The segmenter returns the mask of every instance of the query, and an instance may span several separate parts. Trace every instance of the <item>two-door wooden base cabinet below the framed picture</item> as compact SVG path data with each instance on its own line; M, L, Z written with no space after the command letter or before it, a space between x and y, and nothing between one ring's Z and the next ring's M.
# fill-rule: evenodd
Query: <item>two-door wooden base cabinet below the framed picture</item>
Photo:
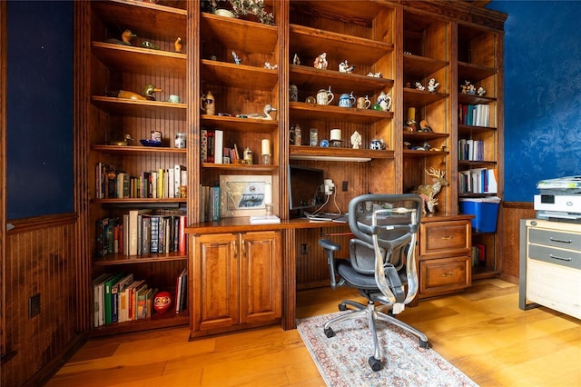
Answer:
M192 338L280 323L280 232L191 238Z

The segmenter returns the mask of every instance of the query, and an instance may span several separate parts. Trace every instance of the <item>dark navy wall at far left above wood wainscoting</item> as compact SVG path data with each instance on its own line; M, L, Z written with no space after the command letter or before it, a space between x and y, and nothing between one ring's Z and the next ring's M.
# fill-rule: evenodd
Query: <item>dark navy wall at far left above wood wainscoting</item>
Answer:
M7 4L7 219L74 211L73 2Z

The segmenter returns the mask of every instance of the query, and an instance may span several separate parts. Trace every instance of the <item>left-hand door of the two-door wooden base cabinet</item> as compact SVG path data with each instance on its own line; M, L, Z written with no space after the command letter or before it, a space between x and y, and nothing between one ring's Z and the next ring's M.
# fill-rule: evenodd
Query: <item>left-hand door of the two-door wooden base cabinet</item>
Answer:
M239 323L239 235L193 237L193 330Z

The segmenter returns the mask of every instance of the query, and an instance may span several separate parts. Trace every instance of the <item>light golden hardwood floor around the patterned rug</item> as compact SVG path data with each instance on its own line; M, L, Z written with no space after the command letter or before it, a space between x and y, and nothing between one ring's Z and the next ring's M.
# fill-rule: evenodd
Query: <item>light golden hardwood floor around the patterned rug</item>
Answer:
M297 316L337 311L349 289L302 291ZM518 287L491 279L421 301L399 318L481 386L580 386L581 321L518 309ZM296 330L268 327L188 342L188 329L94 339L48 386L323 386Z

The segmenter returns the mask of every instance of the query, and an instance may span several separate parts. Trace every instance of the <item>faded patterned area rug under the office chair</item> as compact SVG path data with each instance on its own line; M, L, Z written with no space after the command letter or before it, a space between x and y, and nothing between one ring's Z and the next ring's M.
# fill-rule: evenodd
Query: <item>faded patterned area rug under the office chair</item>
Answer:
M368 359L373 354L373 339L365 319L338 323L331 338L323 332L324 323L340 313L297 320L300 337L327 385L477 386L438 353L419 348L416 336L386 323L378 323L384 366L379 372L371 371Z

